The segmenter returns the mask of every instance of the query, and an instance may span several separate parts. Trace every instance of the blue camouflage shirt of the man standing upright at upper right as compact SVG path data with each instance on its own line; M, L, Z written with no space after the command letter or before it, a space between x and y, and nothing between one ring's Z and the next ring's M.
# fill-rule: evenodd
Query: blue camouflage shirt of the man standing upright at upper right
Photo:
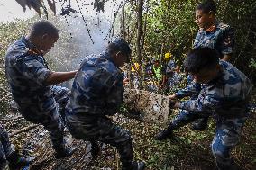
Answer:
M233 53L233 28L229 25L215 22L210 30L200 29L193 48L210 47L217 50L222 56Z

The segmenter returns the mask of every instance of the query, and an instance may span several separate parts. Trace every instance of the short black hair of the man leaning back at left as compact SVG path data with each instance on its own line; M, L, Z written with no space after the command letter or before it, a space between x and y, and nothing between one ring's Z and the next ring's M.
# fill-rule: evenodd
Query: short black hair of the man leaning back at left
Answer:
M50 22L40 21L40 22L35 22L32 25L31 34L32 36L41 36L44 34L58 36L59 30Z

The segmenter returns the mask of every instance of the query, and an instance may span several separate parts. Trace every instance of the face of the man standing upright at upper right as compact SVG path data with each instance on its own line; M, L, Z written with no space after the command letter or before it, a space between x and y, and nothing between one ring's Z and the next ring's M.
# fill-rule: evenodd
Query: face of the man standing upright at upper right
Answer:
M212 14L211 13L204 13L202 10L196 11L196 20L199 28L207 28L209 25L209 22L212 20Z

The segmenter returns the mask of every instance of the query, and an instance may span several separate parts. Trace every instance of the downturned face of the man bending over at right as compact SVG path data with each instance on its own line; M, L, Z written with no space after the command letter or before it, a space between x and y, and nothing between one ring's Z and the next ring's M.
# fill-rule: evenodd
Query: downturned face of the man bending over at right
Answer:
M203 68L196 74L194 73L189 73L189 74L193 76L195 82L199 84L206 84L211 80L215 79L215 77L218 76L219 71L220 71L220 66L217 65L212 69Z

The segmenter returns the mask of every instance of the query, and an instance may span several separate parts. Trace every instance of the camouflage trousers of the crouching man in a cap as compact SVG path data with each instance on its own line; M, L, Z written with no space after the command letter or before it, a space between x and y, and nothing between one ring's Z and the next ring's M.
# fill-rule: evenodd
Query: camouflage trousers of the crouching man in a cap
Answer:
M125 165L130 165L133 160L132 138L127 130L115 125L106 117L83 117L67 115L67 125L73 137L84 139L92 143L94 148L97 141L110 144L117 148L120 160Z

